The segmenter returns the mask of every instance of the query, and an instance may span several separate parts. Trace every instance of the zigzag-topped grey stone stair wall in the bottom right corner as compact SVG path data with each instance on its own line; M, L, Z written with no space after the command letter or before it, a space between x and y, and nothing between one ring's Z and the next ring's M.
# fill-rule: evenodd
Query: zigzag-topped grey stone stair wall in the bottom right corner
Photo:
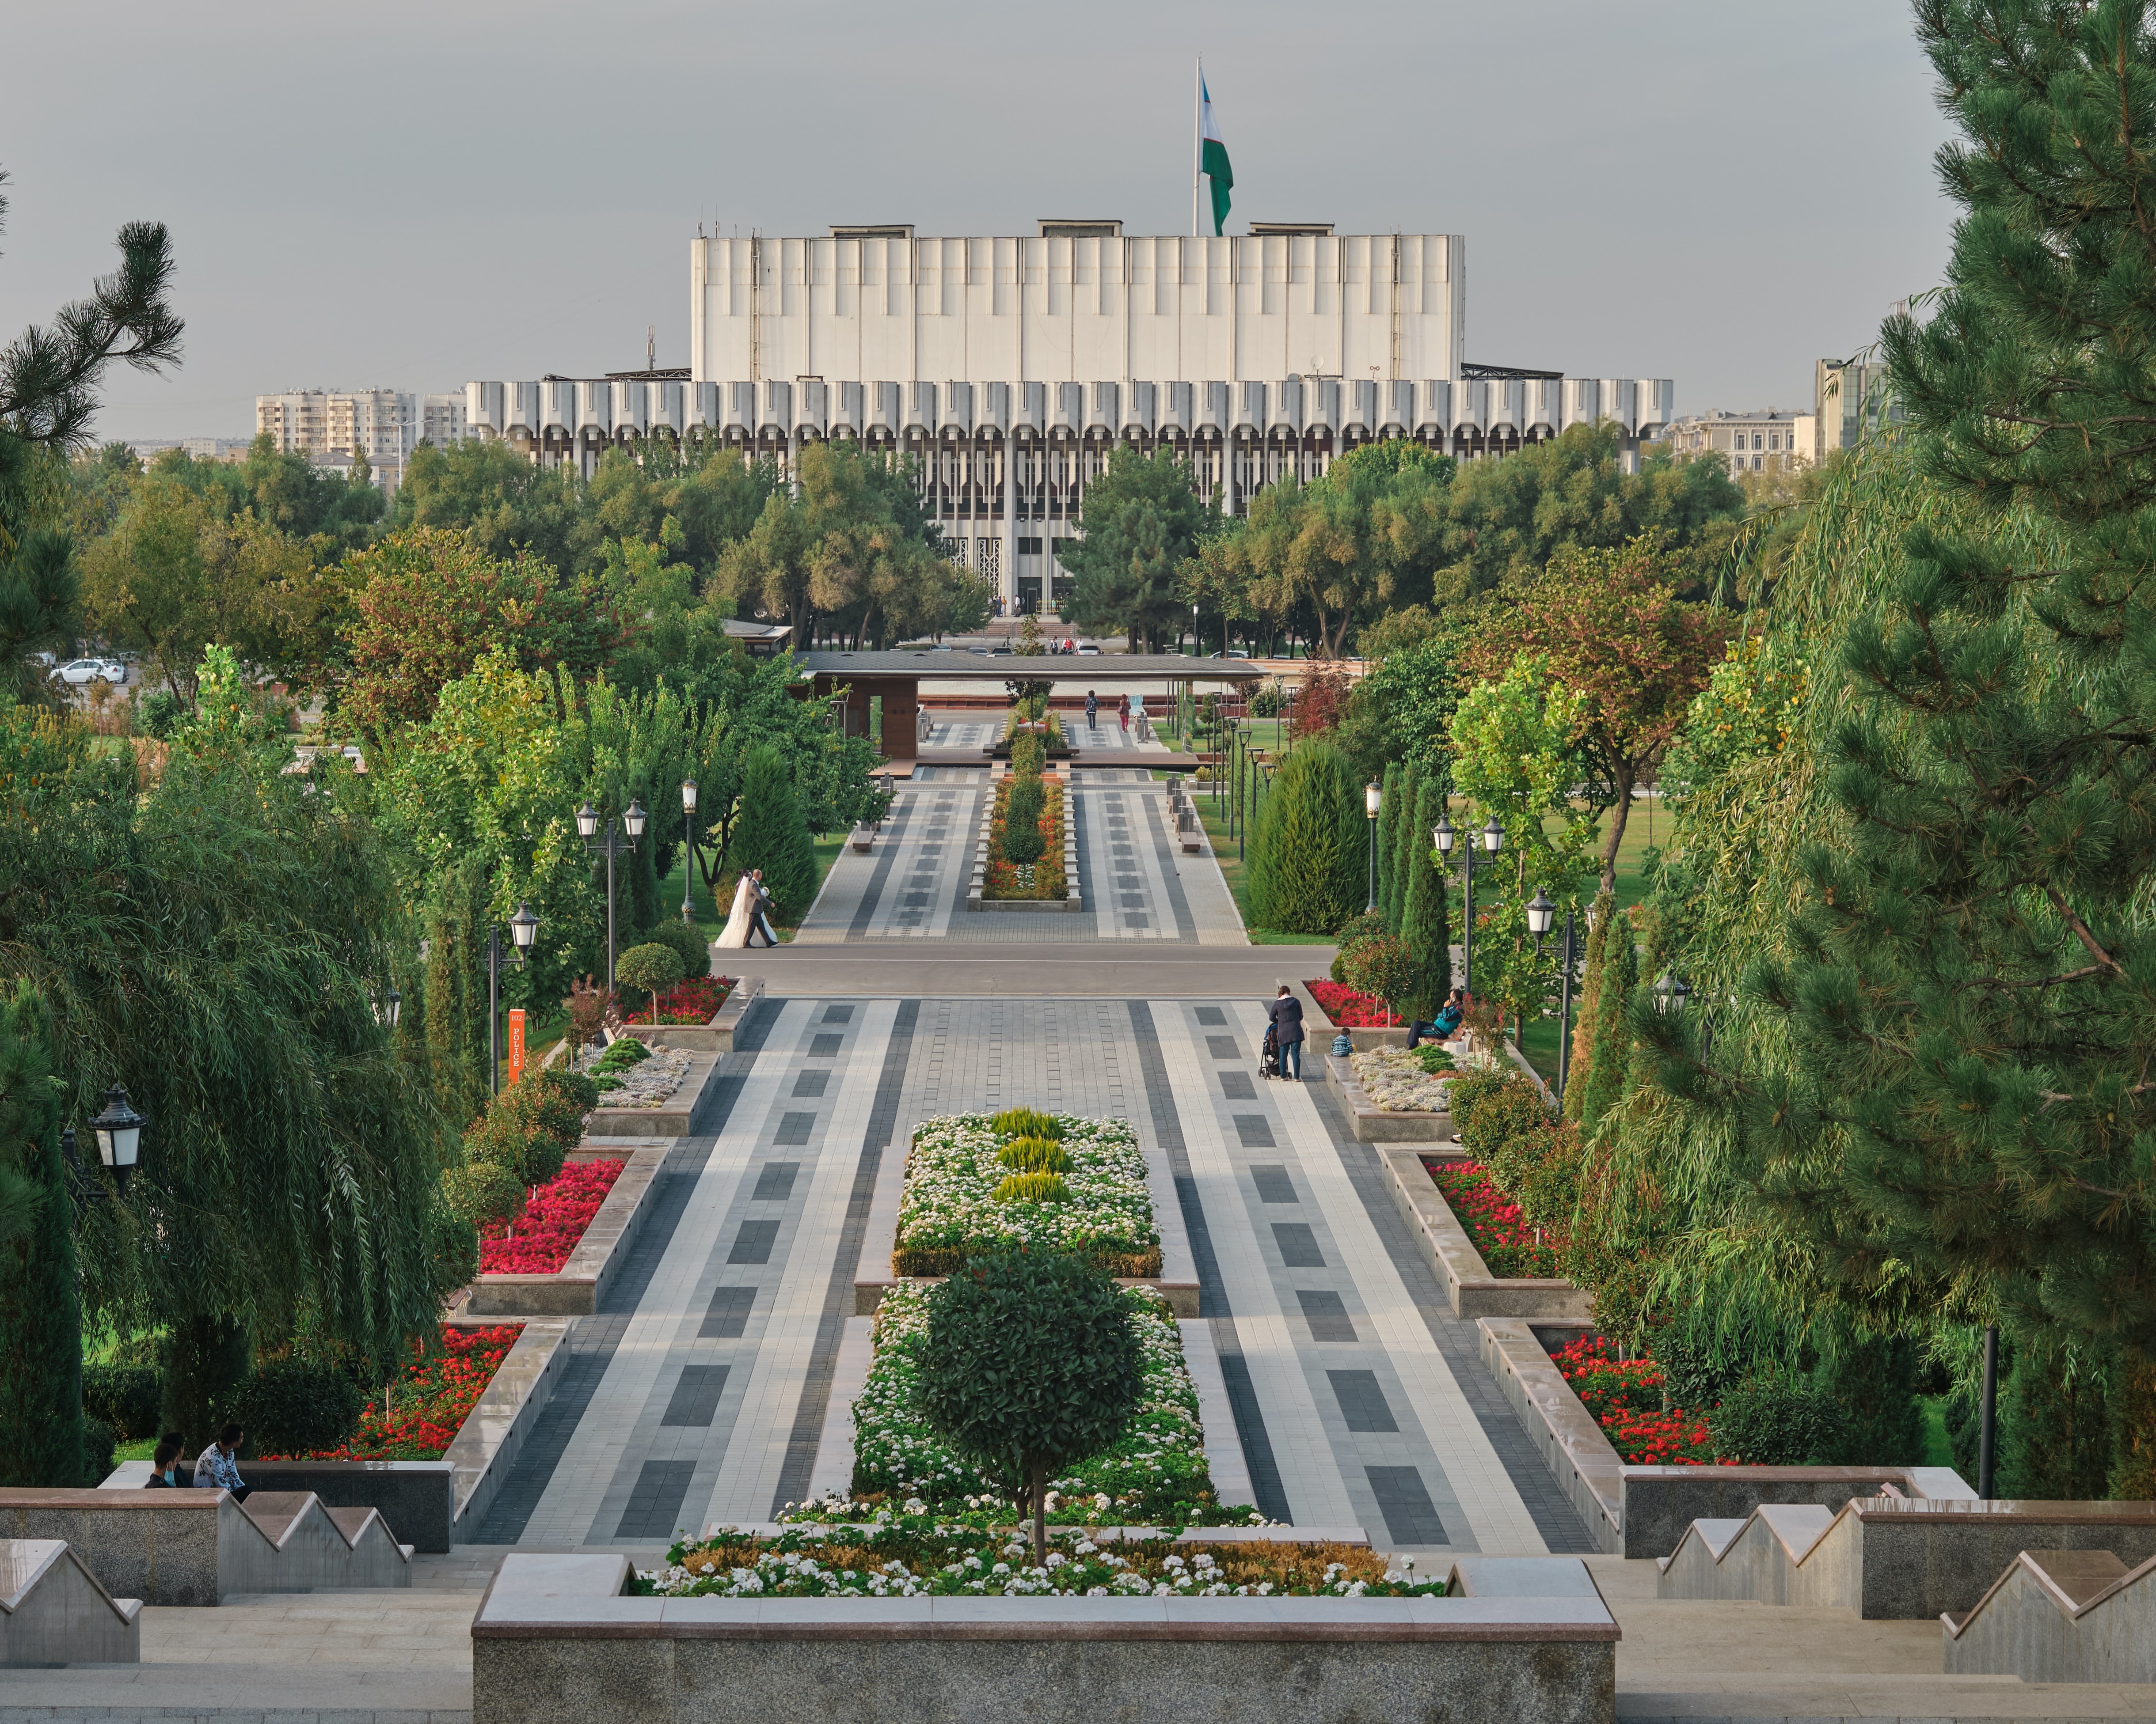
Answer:
M2156 1683L2156 1558L2024 1549L1947 1629L1949 1677L2024 1683Z

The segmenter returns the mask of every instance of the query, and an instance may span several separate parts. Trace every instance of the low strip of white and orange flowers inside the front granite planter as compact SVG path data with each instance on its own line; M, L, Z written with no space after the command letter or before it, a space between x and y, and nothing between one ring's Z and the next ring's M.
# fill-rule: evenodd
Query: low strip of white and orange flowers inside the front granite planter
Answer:
M938 1524L927 1515L776 1539L724 1530L666 1552L630 1590L673 1599L914 1599L914 1597L1153 1597L1153 1599L1440 1599L1445 1577L1421 1577L1367 1545L1179 1545L1171 1539L1061 1534L1039 1567L1024 1541Z

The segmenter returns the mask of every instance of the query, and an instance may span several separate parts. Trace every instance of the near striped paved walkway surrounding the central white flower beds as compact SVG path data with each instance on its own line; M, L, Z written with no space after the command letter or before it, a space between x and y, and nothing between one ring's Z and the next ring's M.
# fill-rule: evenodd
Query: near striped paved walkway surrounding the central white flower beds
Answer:
M1166 1151L1257 1506L1397 1549L1585 1549L1376 1157L1322 1090L1257 1075L1259 1032L1253 998L759 1004L483 1539L664 1543L806 1496L882 1157L1033 1103Z

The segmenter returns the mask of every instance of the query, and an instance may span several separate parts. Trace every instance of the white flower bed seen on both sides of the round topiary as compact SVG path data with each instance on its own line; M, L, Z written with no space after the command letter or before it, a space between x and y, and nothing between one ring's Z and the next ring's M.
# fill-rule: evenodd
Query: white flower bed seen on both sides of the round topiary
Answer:
M1011 1502L959 1459L921 1416L921 1345L927 1287L895 1287L875 1312L875 1358L854 1401L854 1498L804 1502L798 1519L867 1519L918 1502L977 1524L1009 1524ZM1123 1289L1143 1355L1145 1388L1123 1435L1054 1478L1048 1513L1080 1526L1227 1526L1263 1517L1248 1504L1222 1506L1205 1468L1199 1392L1184 1364L1181 1332L1149 1287Z

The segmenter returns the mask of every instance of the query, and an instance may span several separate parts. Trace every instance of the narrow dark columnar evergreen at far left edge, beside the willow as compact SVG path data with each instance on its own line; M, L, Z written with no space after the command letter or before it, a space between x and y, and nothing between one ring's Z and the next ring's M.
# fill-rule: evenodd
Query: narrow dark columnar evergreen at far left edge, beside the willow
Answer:
M82 1474L75 1207L60 1162L52 1024L28 981L0 1011L0 1485Z

